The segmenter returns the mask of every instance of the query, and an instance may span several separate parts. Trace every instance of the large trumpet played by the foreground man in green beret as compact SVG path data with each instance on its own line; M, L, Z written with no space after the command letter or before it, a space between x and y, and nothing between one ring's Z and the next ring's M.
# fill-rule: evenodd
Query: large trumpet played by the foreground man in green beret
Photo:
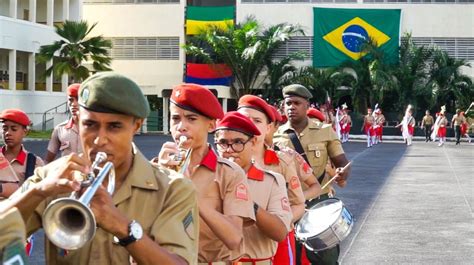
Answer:
M106 162L103 167L99 167L106 160L107 154L97 153L91 173L81 182L81 186L86 190L80 198L73 192L69 197L56 199L46 207L43 213L43 228L48 239L56 246L67 250L78 249L94 237L97 224L89 207L90 201L106 176L109 177L107 191L110 195L115 189L115 170L112 162ZM97 175L95 171L98 171Z

